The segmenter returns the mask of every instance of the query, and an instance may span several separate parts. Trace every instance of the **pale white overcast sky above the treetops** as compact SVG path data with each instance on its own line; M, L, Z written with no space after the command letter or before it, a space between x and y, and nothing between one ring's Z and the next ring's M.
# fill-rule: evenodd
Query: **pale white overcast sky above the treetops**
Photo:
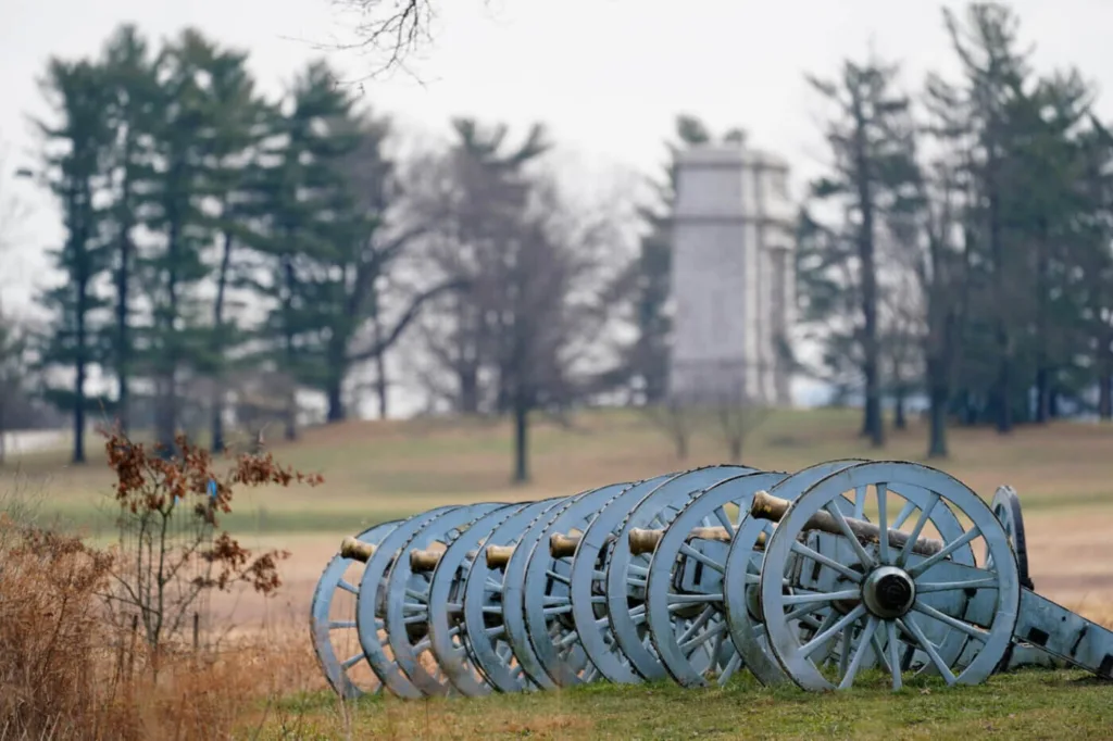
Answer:
M393 2L393 0L384 0ZM545 121L567 152L603 172L654 172L678 112L794 165L794 192L823 157L818 107L805 72L826 75L870 45L903 60L905 82L954 69L940 7L927 0L432 0L435 36L413 75L366 81L363 95L412 131L444 135L450 117L473 115L523 131ZM1075 65L1113 89L1113 0L1016 0L1040 68ZM0 0L0 140L8 144L0 191L32 209L19 259L0 264L4 300L26 300L45 275L41 249L61 230L49 199L10 178L30 162L28 113L43 108L36 78L51 56L96 53L112 29L135 22L149 37L195 26L250 51L260 85L275 93L316 45L346 40L332 0ZM375 59L331 53L352 79ZM1100 102L1113 118L1113 92Z

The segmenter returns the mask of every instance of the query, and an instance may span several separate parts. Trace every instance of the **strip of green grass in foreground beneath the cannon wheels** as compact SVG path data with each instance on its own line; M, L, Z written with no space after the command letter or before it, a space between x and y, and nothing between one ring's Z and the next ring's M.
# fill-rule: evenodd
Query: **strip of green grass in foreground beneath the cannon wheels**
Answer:
M864 678L869 679L869 678ZM976 686L915 681L898 693L814 694L740 678L725 689L592 684L559 692L404 702L364 698L348 711L365 739L1109 739L1113 683L1072 671L1018 671ZM327 693L268 709L260 739L343 738Z

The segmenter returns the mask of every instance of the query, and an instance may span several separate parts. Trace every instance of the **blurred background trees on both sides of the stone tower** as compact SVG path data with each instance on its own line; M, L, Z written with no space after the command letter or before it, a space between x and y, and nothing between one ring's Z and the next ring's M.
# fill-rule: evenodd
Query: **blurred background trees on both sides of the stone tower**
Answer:
M955 79L908 92L876 57L808 78L830 158L797 249L823 348L798 366L860 393L875 446L886 405L902 427L926 397L935 456L955 421L1007 433L1113 414L1113 138L1096 93L1076 70L1034 70L1002 6L944 21ZM446 146L402 157L391 117L326 63L268 99L246 61L194 30L156 46L124 26L95 58L47 67L31 176L62 215L61 278L38 297L49 322L9 330L19 353L0 366L9 387L30 377L13 355L43 372L33 391L72 416L75 461L91 414L167 444L204 429L214 449L229 411L296 437L302 391L326 422L365 394L386 416L403 345L431 406L514 419L519 481L531 415L615 393L669 405L672 161L738 131L677 119L627 255L630 219L569 197L543 125L455 119ZM93 378L112 388L90 393Z

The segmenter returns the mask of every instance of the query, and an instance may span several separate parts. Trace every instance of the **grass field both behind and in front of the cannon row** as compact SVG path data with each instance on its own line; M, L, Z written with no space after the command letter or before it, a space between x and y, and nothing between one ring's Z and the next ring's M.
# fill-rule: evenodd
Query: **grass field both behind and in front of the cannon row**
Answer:
M840 457L920 460L925 429L914 423L874 452L856 435L857 414L825 409L776 414L746 443L748 465L794 471ZM523 501L573 494L725 460L709 427L678 461L667 435L637 412L583 413L571 426L532 429L533 481L509 483L509 427L483 421L346 423L306 431L276 457L326 483L316 490L254 492L227 521L248 546L293 552L285 585L264 603L239 595L223 609L240 626L264 621L304 625L317 575L339 539L375 522L455 502ZM106 492L110 474L99 441L90 460L70 467L60 453L28 455L0 470L0 492L20 488L42 508L93 540L111 536ZM1113 426L1057 423L1018 429L955 429L952 456L933 463L985 497L1001 484L1017 488L1028 530L1037 591L1113 624ZM301 630L301 629L299 629ZM304 632L301 634L304 635ZM307 651L306 638L294 649ZM589 688L479 701L402 703L367 700L342 713L332 695L296 683L296 694L260 704L244 719L259 738L955 738L977 734L1113 738L1113 686L1071 672L1026 672L985 686L855 690L850 696L769 691L740 681L721 691L672 686ZM345 720L345 718L347 720ZM262 725L259 725L262 723Z

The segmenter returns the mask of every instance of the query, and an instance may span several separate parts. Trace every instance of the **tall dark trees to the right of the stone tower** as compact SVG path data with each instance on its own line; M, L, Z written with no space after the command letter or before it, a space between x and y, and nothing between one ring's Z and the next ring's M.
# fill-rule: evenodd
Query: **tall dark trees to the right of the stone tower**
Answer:
M961 75L916 93L876 57L809 77L829 107L829 170L810 185L798 276L817 373L861 389L885 442L927 397L928 455L948 421L1113 415L1113 138L1075 69L1038 72L1016 14L943 11Z

